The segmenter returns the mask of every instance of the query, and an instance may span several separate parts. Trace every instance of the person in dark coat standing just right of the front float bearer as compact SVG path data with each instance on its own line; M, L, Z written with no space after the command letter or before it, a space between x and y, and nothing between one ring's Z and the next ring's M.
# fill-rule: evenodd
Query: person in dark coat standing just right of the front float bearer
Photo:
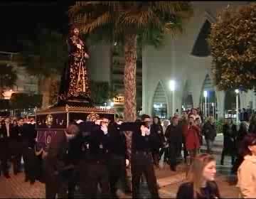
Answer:
M154 165L159 168L159 157L160 157L160 148L163 146L164 143L164 133L163 127L161 126L160 118L154 117L153 124L150 127L151 136L152 136L152 156Z

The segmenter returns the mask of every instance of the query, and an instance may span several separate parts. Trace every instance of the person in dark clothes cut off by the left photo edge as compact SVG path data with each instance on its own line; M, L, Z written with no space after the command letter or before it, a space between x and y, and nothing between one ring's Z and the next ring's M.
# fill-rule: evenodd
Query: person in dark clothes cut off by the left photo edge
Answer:
M1 161L1 173L4 174L6 178L10 178L9 170L7 166L8 161L8 137L6 132L4 120L1 121L1 129L0 129L0 161ZM1 174L0 173L0 174Z

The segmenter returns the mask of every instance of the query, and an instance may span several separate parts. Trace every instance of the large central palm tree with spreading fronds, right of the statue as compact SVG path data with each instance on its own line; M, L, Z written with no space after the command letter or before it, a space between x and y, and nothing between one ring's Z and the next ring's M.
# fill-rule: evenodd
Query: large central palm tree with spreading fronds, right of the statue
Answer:
M90 37L124 45L124 119L136 119L137 42L159 46L166 33L181 33L191 16L186 1L77 1L70 22Z

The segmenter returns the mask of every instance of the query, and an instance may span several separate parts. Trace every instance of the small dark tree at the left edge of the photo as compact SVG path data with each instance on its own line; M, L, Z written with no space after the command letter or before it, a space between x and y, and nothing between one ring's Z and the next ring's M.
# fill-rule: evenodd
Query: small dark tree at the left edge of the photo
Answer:
M0 99L4 99L4 90L13 87L18 76L12 65L1 64L0 71Z

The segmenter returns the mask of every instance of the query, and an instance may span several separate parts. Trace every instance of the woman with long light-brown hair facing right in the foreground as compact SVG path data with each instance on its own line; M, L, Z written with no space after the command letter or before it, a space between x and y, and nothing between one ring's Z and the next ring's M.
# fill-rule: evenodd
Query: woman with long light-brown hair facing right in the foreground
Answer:
M220 198L218 185L214 181L215 173L215 158L210 154L198 154L188 171L188 182L180 185L176 198Z

